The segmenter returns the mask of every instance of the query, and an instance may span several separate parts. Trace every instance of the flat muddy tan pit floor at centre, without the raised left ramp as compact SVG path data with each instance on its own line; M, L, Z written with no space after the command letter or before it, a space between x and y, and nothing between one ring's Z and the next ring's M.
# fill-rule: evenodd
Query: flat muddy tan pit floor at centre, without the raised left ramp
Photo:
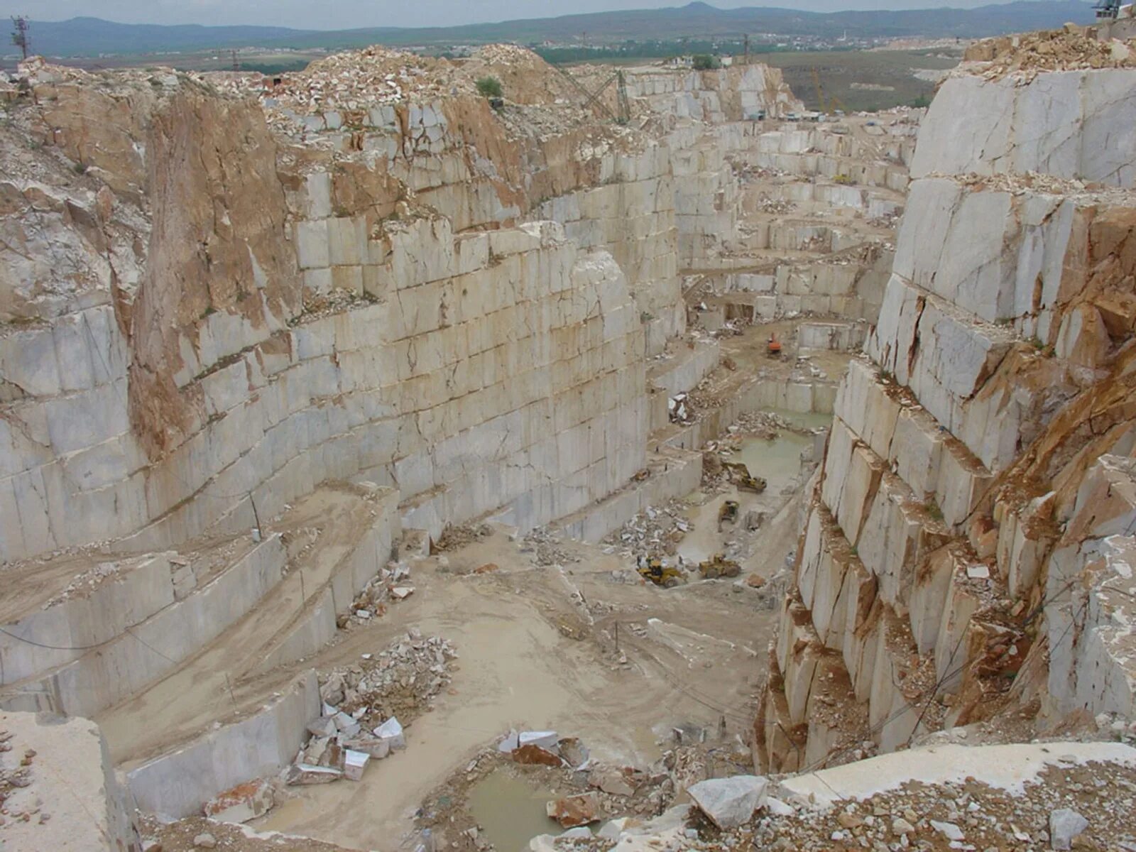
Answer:
M745 566L766 577L796 546L796 499L775 491L746 495L780 506L754 534L760 558ZM616 582L612 571L626 577L633 566L602 546L560 542L579 561L559 568L535 566L524 546L496 532L446 553L446 569L436 558L414 560L410 599L304 663L351 662L411 626L459 653L450 690L408 727L406 751L359 784L300 788L256 828L396 849L421 800L510 727L579 736L593 757L637 765L657 759L682 724L717 727L725 718L730 733L744 733L772 630L770 594L734 579L667 590ZM496 570L471 573L491 562Z

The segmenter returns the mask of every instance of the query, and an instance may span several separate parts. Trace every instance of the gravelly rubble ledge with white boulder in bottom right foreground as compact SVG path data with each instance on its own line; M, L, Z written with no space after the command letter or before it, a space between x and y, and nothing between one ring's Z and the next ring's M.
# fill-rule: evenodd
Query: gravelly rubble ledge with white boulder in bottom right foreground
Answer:
M1054 749L1060 743L1052 744ZM685 788L692 804L654 819L612 819L594 836L542 835L531 852L554 852L571 841L576 852L612 849L726 852L827 852L908 849L1036 852L1037 850L1136 850L1136 779L1131 762L1061 758L1035 777L1006 786L977 780L909 780L868 795L822 786L805 794L797 779L754 775L708 778ZM887 785L886 778L878 784ZM867 780L860 786L871 787Z

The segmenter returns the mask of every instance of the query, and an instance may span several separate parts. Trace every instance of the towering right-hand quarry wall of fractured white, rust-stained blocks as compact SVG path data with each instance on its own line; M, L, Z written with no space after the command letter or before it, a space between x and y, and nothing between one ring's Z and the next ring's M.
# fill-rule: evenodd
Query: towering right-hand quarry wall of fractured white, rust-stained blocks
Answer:
M1133 72L961 75L936 97L807 510L762 766L891 751L1011 701L1136 711L1130 465L1092 467L1133 446ZM1074 419L1089 410L1100 427Z

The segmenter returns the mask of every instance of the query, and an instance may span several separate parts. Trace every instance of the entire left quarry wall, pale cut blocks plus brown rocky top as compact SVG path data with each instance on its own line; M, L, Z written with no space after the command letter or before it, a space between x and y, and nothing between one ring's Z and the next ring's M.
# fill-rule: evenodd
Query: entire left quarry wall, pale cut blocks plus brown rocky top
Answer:
M702 194L671 140L537 133L425 84L257 106L26 72L37 153L82 170L5 182L0 559L161 550L328 479L396 488L434 533L506 507L527 528L643 467L644 357L685 327L677 210ZM784 100L760 76L746 98Z

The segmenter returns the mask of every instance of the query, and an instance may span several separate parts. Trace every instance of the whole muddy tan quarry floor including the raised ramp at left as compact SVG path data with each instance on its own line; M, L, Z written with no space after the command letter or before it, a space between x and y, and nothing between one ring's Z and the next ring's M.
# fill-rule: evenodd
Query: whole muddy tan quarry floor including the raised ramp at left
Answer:
M722 353L736 366L715 371L705 385L709 398L728 398L740 381L755 374L793 371L794 351L770 361L763 345L770 332L792 340L793 325L752 326L724 337ZM836 378L847 356L820 352L810 361ZM817 426L826 418L801 419ZM690 583L674 588L645 583L633 556L644 551L619 543L619 531L604 544L585 544L553 531L525 538L493 527L487 537L434 556L420 556L418 543L408 538L400 558L410 567L412 595L392 602L382 617L352 618L317 654L261 674L258 650L306 602L310 605L312 587L367 523L350 493L319 490L269 528L315 535L323 544L306 550L296 562L302 570L291 571L250 617L169 676L100 715L111 755L119 769L128 769L210 725L254 712L304 670L352 665L410 628L448 640L458 659L433 709L407 724L406 751L373 762L360 783L289 787L286 797L250 827L304 838L298 850L320 843L401 849L417 836L415 816L424 801L510 728L577 736L593 758L638 767L662 754L677 727L724 733L745 751L786 565L797 546L803 483L812 469L780 458L799 451L792 440L750 442L741 458L768 479L762 494L710 481L679 501L691 528L677 552L698 561L732 550L741 577L701 580L694 571ZM740 519L757 510L767 520L754 532L744 523L719 529L718 509L727 499L738 501ZM667 561L674 563L674 557ZM170 841L164 837L164 847ZM242 838L237 846L248 842Z

